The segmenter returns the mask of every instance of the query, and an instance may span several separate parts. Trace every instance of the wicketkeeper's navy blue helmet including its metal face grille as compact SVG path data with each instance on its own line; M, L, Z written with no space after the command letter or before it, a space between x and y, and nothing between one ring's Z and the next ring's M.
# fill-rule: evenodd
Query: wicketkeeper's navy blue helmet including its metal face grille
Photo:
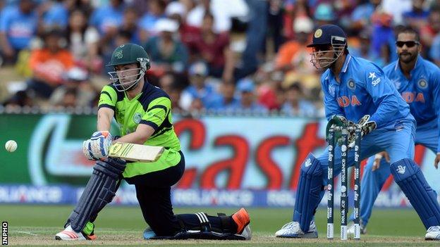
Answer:
M316 68L329 68L339 56L341 56L347 46L346 33L337 25L322 25L314 31L312 44L312 58L310 60ZM326 48L326 49L323 49ZM322 57L324 53L334 52L333 58Z

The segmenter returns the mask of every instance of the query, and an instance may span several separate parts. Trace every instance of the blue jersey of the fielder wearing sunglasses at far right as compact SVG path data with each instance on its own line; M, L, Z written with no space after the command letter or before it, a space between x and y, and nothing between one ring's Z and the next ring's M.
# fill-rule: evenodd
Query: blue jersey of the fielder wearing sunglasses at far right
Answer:
M403 75L398 61L384 68L402 98L409 104L418 128L435 129L440 126L440 69L434 63L417 57L410 79ZM437 152L440 151L440 140Z

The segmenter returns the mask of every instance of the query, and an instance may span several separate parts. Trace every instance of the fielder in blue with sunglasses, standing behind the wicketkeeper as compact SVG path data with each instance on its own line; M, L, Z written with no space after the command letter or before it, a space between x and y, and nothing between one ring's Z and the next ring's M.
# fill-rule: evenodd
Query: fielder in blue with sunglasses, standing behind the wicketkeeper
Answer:
M410 27L398 31L396 49L399 59L384 68L385 75L409 104L410 112L417 121L415 144L421 144L436 153L434 166L437 167L440 160L440 69L419 55L422 49L420 37L417 31ZM387 160L388 153L379 153L376 160L370 157L365 166L360 200L362 234L366 233L365 227L371 216L374 201L390 175ZM348 229L349 234L353 231L353 227Z

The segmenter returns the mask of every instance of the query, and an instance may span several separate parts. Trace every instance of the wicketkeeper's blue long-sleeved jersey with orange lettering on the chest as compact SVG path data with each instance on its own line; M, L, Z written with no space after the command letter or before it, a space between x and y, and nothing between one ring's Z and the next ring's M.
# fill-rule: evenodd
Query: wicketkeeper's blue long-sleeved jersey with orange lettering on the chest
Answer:
M370 115L378 129L393 128L403 120L414 121L408 104L374 63L347 54L339 79L337 82L330 69L321 77L327 120L343 115L358 122Z

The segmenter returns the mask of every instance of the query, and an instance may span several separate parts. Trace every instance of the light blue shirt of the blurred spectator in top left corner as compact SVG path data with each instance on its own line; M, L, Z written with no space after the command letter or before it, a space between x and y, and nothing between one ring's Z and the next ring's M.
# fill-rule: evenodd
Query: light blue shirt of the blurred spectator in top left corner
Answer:
M0 32L4 32L13 49L28 48L37 32L37 13L24 14L17 5L6 6L0 13Z

